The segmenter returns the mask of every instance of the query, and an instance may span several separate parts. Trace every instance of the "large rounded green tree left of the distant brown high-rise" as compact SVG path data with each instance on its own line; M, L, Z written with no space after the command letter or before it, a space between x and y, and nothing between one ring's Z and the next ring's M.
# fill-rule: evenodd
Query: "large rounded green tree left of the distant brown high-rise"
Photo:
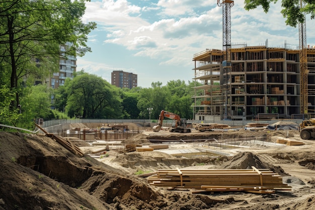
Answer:
M119 89L96 75L80 72L64 84L68 116L83 118L121 118Z

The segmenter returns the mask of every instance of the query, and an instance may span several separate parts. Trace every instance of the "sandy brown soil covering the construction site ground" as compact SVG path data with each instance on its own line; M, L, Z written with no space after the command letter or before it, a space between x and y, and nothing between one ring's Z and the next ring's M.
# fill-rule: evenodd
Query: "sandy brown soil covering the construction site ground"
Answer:
M134 125L136 126L136 125ZM0 132L0 210L3 209L315 209L315 141L303 141L298 131L212 131L159 133L140 129L130 141L151 144L148 139L180 140L171 149L205 147L202 141L188 139L251 139L267 142L291 139L301 146L276 146L244 141L230 149L217 149L231 156L178 158L162 153L111 150L91 157L102 146L73 141L85 153L77 157L44 135ZM185 140L187 140L185 142ZM184 141L184 142L183 142ZM269 168L292 186L291 191L274 194L218 192L192 194L191 190L173 190L149 185L138 172L158 169L246 169Z

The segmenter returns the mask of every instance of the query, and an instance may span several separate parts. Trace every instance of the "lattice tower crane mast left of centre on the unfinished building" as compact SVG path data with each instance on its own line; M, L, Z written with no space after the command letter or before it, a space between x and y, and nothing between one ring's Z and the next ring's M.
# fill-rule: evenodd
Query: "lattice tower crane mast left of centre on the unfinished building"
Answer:
M222 6L223 14L223 84L225 84L225 108L224 108L224 119L227 119L227 105L228 105L228 92L229 92L229 82L231 72L231 58L230 58L230 49L231 49L231 7L234 5L234 1L230 0L217 0L217 5Z

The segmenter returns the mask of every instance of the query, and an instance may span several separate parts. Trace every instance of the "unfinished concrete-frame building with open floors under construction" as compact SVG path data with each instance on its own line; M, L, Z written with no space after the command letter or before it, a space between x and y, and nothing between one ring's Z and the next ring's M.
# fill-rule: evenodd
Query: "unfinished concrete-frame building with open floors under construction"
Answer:
M294 118L300 111L299 50L243 46L194 54L196 120ZM308 112L315 110L315 48L307 48Z

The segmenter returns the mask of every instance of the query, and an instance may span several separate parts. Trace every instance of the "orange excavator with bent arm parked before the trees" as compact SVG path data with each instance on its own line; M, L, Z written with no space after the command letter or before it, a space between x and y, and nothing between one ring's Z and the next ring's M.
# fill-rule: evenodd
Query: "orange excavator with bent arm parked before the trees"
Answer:
M162 128L162 123L164 118L170 118L175 120L175 128L171 128L170 132L181 132L181 133L190 133L191 129L187 128L187 120L181 119L178 114L174 114L172 112L167 112L162 110L159 117L159 122L152 129L154 132L159 132Z

